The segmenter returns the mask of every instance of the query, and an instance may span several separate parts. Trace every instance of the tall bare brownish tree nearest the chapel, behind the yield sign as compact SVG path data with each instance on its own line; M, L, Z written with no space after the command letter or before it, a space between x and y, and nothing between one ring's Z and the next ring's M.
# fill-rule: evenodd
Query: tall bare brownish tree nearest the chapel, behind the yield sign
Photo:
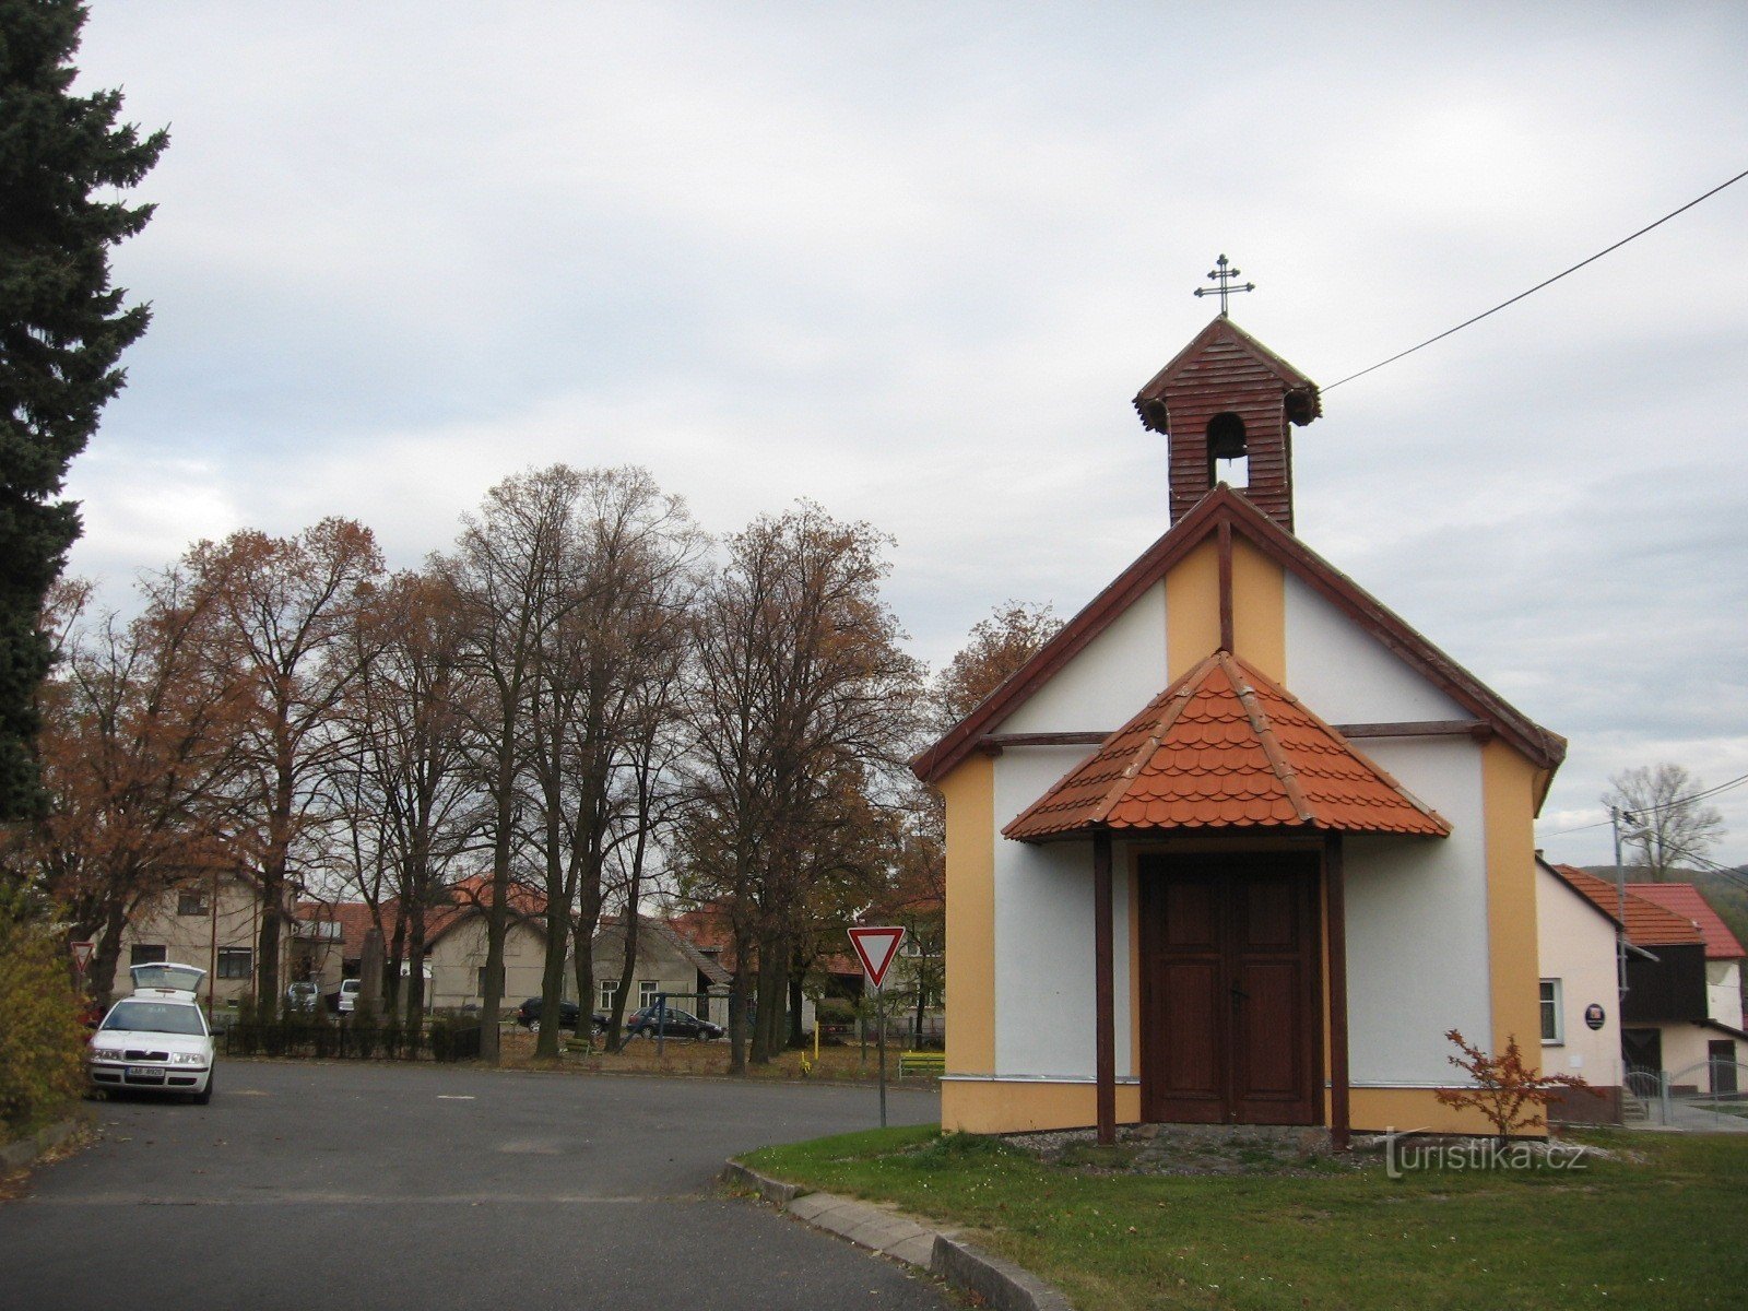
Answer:
M753 1061L781 1035L797 919L832 864L851 799L846 776L895 769L919 671L879 596L890 542L818 505L755 519L701 614L694 703L701 806L680 855L694 898L734 940L731 1068L746 1070L745 1002L759 958Z

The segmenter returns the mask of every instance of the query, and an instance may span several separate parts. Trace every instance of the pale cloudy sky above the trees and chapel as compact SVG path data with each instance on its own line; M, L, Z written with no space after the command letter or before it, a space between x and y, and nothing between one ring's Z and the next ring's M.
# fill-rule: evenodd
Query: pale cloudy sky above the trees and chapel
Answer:
M91 9L84 86L173 133L70 482L117 601L325 514L416 565L505 474L631 461L711 531L890 531L940 662L1164 530L1129 397L1217 253L1328 386L1748 168L1741 3ZM1745 255L1748 180L1295 442L1301 537L1571 739L1556 858L1608 858L1563 830L1610 773L1748 774Z

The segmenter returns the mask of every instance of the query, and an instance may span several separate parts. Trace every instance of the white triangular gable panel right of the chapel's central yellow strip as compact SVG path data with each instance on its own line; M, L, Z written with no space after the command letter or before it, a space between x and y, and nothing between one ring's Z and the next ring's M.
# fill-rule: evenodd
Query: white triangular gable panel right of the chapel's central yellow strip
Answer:
M1456 701L1290 572L1287 687L1328 724L1468 717Z

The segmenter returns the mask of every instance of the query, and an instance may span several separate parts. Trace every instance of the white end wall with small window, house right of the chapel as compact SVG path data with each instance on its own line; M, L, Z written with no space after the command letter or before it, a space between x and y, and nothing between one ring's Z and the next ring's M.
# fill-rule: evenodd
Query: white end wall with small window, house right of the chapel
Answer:
M1598 1087L1620 1084L1620 989L1615 965L1615 926L1594 904L1556 874L1536 867L1535 926L1543 979L1559 979L1561 1042L1543 1044L1542 1068L1552 1075L1578 1075ZM1603 1026L1584 1023L1584 1010L1603 1009ZM1530 1040L1519 1037L1523 1047Z

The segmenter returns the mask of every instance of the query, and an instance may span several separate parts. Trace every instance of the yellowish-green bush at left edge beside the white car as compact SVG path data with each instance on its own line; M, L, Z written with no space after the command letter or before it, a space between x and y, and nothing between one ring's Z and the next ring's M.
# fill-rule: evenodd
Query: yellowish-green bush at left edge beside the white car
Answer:
M0 905L0 1140L45 1124L84 1091L79 1007L56 935Z

